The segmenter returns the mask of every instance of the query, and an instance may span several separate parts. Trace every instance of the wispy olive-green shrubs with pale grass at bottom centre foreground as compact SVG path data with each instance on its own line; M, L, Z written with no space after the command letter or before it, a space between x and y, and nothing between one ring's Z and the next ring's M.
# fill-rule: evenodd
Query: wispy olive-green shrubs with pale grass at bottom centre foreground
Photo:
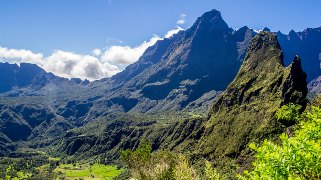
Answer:
M120 150L120 159L128 165L131 175L139 180L194 180L196 171L182 154L174 155L164 150L158 156L152 147L142 142L142 147L132 152Z

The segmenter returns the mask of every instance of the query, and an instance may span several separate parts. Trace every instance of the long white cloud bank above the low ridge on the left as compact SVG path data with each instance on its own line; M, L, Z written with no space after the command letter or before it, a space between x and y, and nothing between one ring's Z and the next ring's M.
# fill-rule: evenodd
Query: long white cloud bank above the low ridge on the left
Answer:
M95 51L95 50L94 50ZM100 52L96 50L96 53ZM101 63L96 57L55 50L51 56L43 58L42 53L32 53L24 49L8 49L0 46L0 58L13 59L13 63L29 62L37 64L47 72L64 78L81 78L90 81L111 77L120 72L115 65Z

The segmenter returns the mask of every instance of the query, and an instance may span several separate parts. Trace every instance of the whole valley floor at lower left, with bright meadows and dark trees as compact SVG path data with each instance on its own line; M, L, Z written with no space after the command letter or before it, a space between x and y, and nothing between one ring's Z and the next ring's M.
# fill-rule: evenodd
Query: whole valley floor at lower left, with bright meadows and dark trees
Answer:
M66 164L62 163L65 162ZM116 165L90 163L73 166L72 160L54 160L47 156L24 158L1 158L0 179L3 180L54 180L54 179L93 179L111 180L124 169Z

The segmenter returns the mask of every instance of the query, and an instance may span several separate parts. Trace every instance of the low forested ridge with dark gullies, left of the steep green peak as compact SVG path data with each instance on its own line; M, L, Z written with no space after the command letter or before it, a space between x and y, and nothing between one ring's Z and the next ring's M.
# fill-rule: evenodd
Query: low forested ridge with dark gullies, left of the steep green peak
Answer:
M143 137L151 142L153 150L159 149L160 145L172 150L204 121L204 118L188 117L188 113L180 111L155 115L111 113L83 127L68 130L56 142L51 156L93 160L101 155L108 158L106 164L112 164L112 161L119 158L121 148L134 150Z

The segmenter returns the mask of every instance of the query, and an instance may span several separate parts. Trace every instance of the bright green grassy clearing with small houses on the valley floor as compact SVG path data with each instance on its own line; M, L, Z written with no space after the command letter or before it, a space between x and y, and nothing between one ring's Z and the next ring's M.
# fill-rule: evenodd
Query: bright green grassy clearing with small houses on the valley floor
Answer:
M82 169L74 169L76 167ZM65 174L65 179L100 179L100 180L111 180L112 178L118 176L123 169L117 170L117 166L105 166L99 165L97 163L93 164L92 166L87 164L76 164L74 167L72 164L61 164L59 167L56 168L56 172L61 172Z

